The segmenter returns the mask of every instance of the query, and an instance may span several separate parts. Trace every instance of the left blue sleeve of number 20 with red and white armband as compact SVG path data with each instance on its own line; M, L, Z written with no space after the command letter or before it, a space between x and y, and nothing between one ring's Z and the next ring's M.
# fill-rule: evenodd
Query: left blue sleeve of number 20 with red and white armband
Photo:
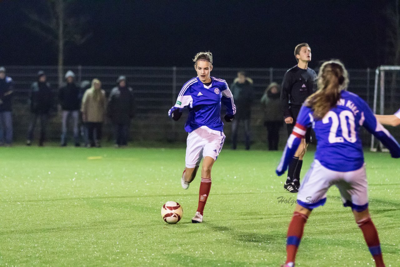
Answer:
M311 120L309 114L311 113L311 108L307 106L302 106L298 114L296 125L293 128L292 134L289 136L286 142L285 149L283 151L280 163L276 168L276 174L278 176L283 175L288 169L290 161L292 161L294 153L301 143L301 139L306 135L307 128L311 126Z

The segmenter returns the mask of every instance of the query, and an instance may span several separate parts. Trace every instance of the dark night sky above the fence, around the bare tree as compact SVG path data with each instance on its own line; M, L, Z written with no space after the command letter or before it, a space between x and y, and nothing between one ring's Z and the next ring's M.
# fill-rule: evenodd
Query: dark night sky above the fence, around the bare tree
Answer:
M389 1L387 1L389 2ZM42 3L42 4L41 4ZM0 1L0 65L56 65L54 44L26 28L22 11L43 2ZM92 37L66 48L65 65L192 66L210 50L214 67L293 66L296 44L312 48L311 67L341 59L348 68L387 61L385 1L72 1Z

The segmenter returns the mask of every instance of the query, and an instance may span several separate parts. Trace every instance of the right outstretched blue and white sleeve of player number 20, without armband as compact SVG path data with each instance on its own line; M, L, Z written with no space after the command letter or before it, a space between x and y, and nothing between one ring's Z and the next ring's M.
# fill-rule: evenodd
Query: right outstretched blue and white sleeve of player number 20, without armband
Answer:
M372 135L374 135L387 149L389 149L392 158L400 158L400 146L397 141L392 137L390 132L376 120L374 113L366 102L364 102L364 100L361 100L360 102L363 110L362 116L364 116L362 126L364 126L368 132L372 133Z

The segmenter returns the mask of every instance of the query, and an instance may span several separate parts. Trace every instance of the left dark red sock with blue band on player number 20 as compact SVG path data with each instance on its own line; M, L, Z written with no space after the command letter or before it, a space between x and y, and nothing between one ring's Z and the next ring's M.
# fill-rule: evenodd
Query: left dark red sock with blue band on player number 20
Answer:
M308 219L307 215L295 211L290 221L286 239L286 263L294 262L298 246L303 236L304 225Z

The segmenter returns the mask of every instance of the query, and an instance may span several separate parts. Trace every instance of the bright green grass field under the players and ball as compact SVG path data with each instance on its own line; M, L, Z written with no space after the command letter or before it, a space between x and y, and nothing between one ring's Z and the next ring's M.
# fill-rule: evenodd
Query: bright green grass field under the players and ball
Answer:
M204 223L192 224L200 176L184 191L184 149L0 148L1 266L278 266L295 199L281 152L222 150ZM304 159L302 175L313 152ZM400 161L366 152L370 211L386 266L400 266ZM182 220L160 209L179 202ZM313 211L296 266L374 266L336 188Z

